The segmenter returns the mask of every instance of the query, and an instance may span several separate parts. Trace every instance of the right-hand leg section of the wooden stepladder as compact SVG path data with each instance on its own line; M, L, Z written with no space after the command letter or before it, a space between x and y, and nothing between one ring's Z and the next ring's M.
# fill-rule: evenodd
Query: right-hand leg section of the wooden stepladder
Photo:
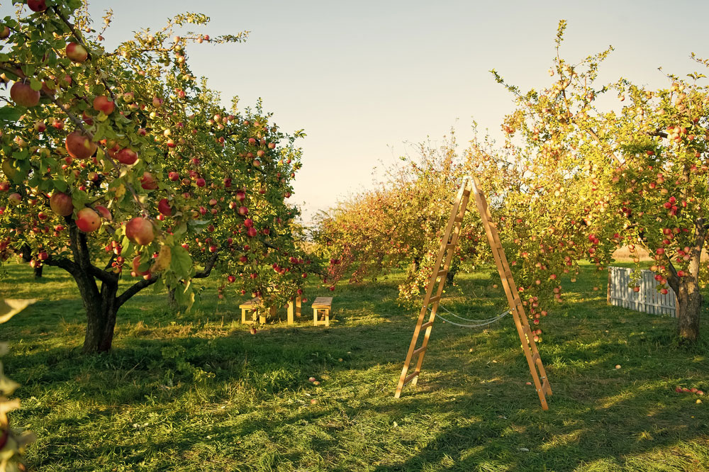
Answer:
M475 203L478 207L478 211L480 212L480 218L485 228L488 241L490 246L493 248L493 258L495 259L497 271L502 279L502 284L505 289L508 303L510 308L513 308L511 313L513 315L513 319L515 320L515 327L517 327L520 341L522 342L522 350L525 354L525 358L527 359L527 365L529 366L530 373L532 374L532 380L534 381L535 388L537 389L537 395L539 396L540 403L542 404L542 409L548 410L549 407L547 405L546 394L548 393L551 395L551 387L549 386L547 373L544 369L544 364L542 364L539 351L537 350L537 344L531 334L532 330L529 326L529 322L527 322L527 314L525 313L522 300L519 298L517 285L513 279L512 271L510 271L507 256L502 248L502 243L500 242L497 228L491 221L492 216L484 193L480 189L480 182L478 179L474 178L473 184ZM539 373L537 373L537 369L539 369ZM542 381L545 383L540 381L540 376L542 377Z

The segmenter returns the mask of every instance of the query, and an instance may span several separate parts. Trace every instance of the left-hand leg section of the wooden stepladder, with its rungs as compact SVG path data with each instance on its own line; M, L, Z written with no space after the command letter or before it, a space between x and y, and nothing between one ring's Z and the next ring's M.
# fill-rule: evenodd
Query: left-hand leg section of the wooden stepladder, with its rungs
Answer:
M455 201L453 203L453 208L450 214L450 218L448 219L448 224L445 227L445 231L443 232L443 237L441 238L441 244L440 244L440 249L438 251L438 257L436 258L435 265L433 267L433 271L431 274L431 278L428 281L428 287L426 288L426 295L423 298L423 307L421 308L421 312L418 315L418 320L416 322L416 327L413 330L413 336L411 337L411 343L409 344L408 347L408 352L406 354L406 360L404 360L403 363L403 369L401 369L401 376L399 377L398 385L396 386L396 393L394 393L394 398L399 398L401 396L401 389L403 388L406 383L409 383L410 381L414 381L413 384L415 385L415 379L418 379L418 374L420 373L421 369L421 364L423 363L423 357L425 354L425 347L428 346L428 339L430 337L430 333L432 331L432 325L433 321L435 320L435 315L436 315L436 310L438 308L438 305L436 304L437 301L440 300L441 293L443 291L443 286L445 284L445 278L441 279L441 281L438 283L437 290L436 290L436 295L433 296L433 289L436 286L436 281L439 279L443 274L447 274L448 269L450 268L450 261L453 256L453 251L447 251L446 247L449 244L455 244L457 243L457 238L460 232L460 221L457 221L457 215L464 215L465 210L467 208L467 204L469 201L469 195L471 193L471 180L469 177L465 177L462 181L462 184L460 186L460 189L457 193L457 196L455 198ZM450 243L449 243L450 241ZM448 252L448 254L446 254ZM445 262L444 262L445 260ZM441 267L441 264L443 263L443 267ZM428 313L428 305L432 303L433 300L433 308L431 310L431 314L429 317L428 322L423 323L423 318L425 317L425 314ZM416 344L418 344L418 337L420 335L420 331L422 327L425 327L425 335L423 338L423 344L422 348L423 351L420 351L418 355L418 361L416 363L416 369L411 375L407 376L409 366L411 364L411 360L413 359L414 352L417 350L416 349ZM419 348L421 349L421 348Z

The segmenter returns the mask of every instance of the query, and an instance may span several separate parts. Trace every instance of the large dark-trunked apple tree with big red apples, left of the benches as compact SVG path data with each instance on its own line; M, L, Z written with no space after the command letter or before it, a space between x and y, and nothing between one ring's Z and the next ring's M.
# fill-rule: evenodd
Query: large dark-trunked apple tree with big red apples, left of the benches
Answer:
M26 9L0 23L0 259L72 275L84 352L111 348L119 308L148 286L187 306L192 281L213 273L220 295L283 305L302 293L311 262L288 203L301 133L260 103L225 109L189 68L188 47L246 33L184 32L208 23L188 13L106 50L110 13L96 27L81 0Z

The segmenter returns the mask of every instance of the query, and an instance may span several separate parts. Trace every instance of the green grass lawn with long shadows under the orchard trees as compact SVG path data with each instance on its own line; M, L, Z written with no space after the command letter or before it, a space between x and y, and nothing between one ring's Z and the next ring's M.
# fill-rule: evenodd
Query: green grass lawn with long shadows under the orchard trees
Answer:
M22 384L11 420L38 434L38 471L709 470L709 395L674 391L709 390L709 313L701 342L680 347L674 319L608 307L588 266L542 324L548 411L510 317L437 323L418 386L395 400L418 315L397 305L397 276L338 288L329 328L312 326L306 303L295 327L257 335L240 325L243 298L217 300L214 280L191 313L147 291L118 314L113 351L84 356L69 277L7 269L0 296L40 299L0 327ZM447 308L501 313L495 282L461 274Z

